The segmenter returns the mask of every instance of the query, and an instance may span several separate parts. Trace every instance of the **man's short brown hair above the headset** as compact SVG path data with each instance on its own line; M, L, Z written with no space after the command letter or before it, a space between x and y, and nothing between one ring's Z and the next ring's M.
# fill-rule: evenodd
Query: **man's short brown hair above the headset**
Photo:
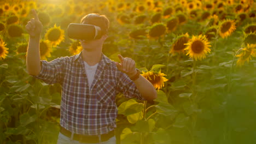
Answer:
M109 20L105 15L100 14L88 14L85 15L80 23L95 25L101 28L101 35L107 34L109 28Z

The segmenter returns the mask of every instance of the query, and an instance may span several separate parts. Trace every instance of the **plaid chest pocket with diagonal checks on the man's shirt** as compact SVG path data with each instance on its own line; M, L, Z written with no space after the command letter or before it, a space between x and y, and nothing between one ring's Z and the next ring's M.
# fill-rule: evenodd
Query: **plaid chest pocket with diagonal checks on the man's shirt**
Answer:
M97 85L97 101L98 103L115 103L115 82L114 81L103 81Z

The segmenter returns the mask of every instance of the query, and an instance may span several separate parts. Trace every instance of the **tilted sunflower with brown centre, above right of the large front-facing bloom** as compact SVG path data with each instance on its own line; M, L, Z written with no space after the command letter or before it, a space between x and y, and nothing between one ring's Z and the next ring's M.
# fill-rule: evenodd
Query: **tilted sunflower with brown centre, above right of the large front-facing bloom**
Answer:
M236 23L234 20L225 20L219 29L219 35L222 38L228 37L236 29Z

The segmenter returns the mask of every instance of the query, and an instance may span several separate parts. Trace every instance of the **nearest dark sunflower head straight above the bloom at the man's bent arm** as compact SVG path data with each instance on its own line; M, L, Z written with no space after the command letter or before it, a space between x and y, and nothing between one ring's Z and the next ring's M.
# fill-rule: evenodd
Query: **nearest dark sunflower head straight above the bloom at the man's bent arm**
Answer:
M159 38L161 35L164 35L166 27L162 23L155 23L152 27L149 28L149 37L150 38Z

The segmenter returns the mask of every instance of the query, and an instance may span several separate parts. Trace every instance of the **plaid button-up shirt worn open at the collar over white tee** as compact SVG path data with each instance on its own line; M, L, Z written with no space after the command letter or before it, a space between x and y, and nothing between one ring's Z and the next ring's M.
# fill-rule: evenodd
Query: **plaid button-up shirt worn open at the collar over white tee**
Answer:
M39 75L45 83L60 83L60 125L75 134L99 135L114 130L118 115L115 96L144 100L135 83L119 71L113 61L103 55L89 89L82 52L71 57L41 61Z

